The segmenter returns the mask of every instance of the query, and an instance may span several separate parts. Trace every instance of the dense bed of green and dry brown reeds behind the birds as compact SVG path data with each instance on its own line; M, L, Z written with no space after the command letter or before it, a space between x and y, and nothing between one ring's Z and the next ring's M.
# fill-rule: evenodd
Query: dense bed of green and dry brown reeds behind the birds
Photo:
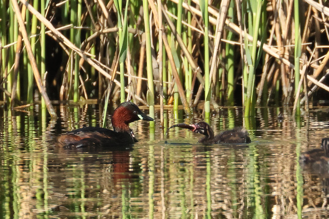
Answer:
M204 101L206 120L211 105L298 115L329 91L326 3L1 0L0 11L2 99L42 99L52 117L51 100L85 99L131 100L153 115L155 104L189 114Z

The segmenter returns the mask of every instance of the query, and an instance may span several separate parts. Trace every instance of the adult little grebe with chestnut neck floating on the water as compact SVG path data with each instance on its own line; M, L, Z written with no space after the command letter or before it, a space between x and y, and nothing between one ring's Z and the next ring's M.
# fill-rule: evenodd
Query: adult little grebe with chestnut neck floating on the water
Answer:
M132 102L123 102L114 110L112 126L114 130L101 127L84 127L67 132L57 138L58 146L123 146L137 142L129 123L136 120L153 121L142 113L138 106Z

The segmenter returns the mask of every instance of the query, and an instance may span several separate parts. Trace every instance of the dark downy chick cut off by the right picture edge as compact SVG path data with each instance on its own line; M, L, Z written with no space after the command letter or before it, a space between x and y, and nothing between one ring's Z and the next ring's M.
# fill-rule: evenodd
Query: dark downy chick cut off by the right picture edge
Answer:
M302 154L299 164L307 166L314 173L329 174L329 138L323 138L321 148Z

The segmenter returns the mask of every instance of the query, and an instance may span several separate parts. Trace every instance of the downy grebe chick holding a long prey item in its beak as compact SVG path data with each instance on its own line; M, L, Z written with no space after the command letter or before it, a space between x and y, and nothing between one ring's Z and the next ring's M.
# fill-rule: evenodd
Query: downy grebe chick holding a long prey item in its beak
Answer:
M250 143L250 137L247 130L243 127L235 127L234 129L226 130L214 136L214 131L207 122L198 122L195 124L179 123L172 127L187 128L193 133L200 133L205 137L199 140L204 145L212 145L213 143ZM169 129L170 129L169 128ZM168 129L168 131L169 131Z

